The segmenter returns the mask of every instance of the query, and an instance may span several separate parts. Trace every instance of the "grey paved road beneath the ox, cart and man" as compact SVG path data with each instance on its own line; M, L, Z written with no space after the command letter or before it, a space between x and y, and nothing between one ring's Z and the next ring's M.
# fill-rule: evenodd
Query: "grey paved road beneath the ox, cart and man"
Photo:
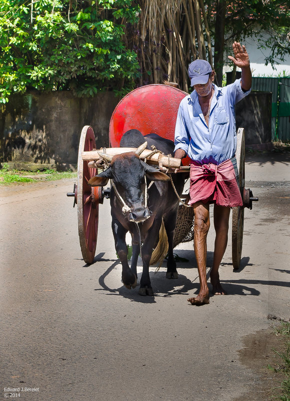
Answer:
M65 196L72 180L0 187L0 399L7 387L20 394L8 399L29 401L269 399L269 317L290 310L289 165L287 154L247 156L259 202L245 211L241 268L232 270L229 238L228 295L201 307L186 302L198 288L192 243L177 247L189 260L179 279L152 270L155 296L140 297L121 285L108 201L86 265ZM212 245L211 227L208 265Z

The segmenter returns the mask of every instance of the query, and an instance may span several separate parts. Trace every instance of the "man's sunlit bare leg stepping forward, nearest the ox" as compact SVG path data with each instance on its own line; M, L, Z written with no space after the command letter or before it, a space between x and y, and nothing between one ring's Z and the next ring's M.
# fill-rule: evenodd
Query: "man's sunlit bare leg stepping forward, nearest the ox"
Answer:
M194 253L199 275L199 293L194 298L188 298L192 305L209 303L209 292L206 280L206 237L209 229L209 205L196 202L194 209Z

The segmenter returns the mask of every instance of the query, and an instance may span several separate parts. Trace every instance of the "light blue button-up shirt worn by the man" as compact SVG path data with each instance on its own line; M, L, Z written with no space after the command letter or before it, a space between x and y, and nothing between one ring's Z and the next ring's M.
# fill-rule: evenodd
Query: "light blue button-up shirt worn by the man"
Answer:
M220 164L231 159L236 149L234 105L250 93L243 92L240 79L223 88L213 85L208 127L196 91L181 100L175 125L175 149L183 149L201 164Z

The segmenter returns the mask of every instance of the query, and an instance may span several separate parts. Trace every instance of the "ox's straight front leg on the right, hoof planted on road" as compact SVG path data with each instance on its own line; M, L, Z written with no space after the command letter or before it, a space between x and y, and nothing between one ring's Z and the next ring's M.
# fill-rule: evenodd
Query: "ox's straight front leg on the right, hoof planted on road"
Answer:
M153 246L157 238L160 226L161 226L161 220L154 221L151 228L148 230L143 246L141 248L143 270L140 279L140 288L139 288L140 295L154 296L149 276L149 264L152 256Z

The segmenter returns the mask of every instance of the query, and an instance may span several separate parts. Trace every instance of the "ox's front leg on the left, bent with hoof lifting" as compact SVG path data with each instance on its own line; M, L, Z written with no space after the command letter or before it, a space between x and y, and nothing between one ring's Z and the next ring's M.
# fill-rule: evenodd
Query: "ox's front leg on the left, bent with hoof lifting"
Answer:
M135 288L137 284L136 275L128 265L128 248L126 244L126 232L118 220L112 220L112 232L115 241L115 250L122 264L122 283L128 289Z

